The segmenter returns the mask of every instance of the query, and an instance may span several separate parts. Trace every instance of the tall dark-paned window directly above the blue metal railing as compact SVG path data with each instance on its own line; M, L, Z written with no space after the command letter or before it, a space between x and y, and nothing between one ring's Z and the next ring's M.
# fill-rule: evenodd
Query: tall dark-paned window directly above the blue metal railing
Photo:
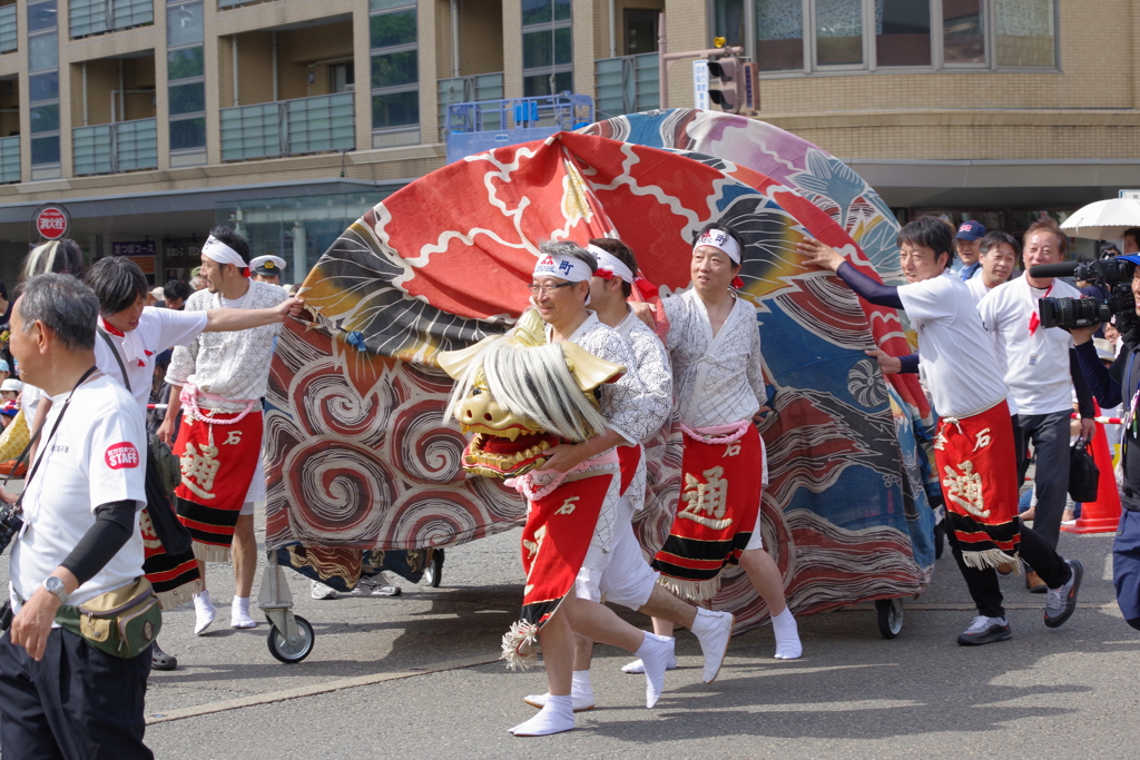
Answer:
M573 91L570 0L522 0L522 95Z

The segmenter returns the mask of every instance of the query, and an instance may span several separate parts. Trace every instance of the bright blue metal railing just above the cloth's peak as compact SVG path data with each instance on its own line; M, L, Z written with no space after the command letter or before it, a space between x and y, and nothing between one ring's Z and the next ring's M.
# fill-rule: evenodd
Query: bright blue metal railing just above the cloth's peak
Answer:
M594 123L594 99L588 95L544 95L537 98L506 98L455 103L447 107L451 132L487 132L554 126L572 130Z

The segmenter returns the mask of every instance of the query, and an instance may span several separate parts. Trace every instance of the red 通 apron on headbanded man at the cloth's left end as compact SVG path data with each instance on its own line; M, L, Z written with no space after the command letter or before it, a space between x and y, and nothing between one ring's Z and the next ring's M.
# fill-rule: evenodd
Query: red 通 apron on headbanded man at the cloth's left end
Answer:
M261 411L211 412L207 423L187 414L178 431L174 456L182 482L174 490L178 518L194 538L194 556L229 562L229 547L254 474L261 477ZM241 419L237 419L241 417ZM237 419L229 424L228 420Z

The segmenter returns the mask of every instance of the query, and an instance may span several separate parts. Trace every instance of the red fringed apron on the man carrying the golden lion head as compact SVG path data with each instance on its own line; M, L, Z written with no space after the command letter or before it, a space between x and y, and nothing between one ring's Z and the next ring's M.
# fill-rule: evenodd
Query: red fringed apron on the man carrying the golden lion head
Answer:
M502 659L511 669L524 669L536 661L538 631L573 588L606 497L618 498L617 469L571 471L554 488L536 484L531 476L539 473L518 479L516 488L529 507L522 529L527 585L521 619L503 637Z

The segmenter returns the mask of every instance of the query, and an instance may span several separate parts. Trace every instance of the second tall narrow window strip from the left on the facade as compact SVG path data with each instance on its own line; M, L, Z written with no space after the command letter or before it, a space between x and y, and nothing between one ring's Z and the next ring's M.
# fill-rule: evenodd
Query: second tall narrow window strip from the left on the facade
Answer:
M171 164L202 163L206 147L206 85L202 2L166 6L166 92Z

